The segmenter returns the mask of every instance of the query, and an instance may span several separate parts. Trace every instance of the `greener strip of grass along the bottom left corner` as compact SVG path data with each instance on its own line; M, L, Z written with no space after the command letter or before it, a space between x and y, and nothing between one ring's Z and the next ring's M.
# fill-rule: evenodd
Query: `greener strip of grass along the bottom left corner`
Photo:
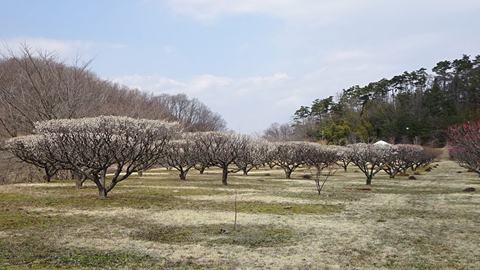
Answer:
M100 240L101 241L101 240ZM0 269L219 269L193 260L172 262L134 251L63 248L42 236L0 240Z

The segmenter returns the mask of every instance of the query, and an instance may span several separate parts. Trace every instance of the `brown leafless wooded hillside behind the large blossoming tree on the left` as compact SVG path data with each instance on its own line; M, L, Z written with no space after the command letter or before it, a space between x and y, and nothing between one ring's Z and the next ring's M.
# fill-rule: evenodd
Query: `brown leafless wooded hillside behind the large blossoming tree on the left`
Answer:
M95 75L90 65L91 61L80 60L67 64L58 53L27 45L18 53L7 49L0 57L0 139L33 134L38 121L99 115L177 121L188 132L226 130L221 115L198 99L185 94L153 95L115 84ZM4 151L0 158L0 182L32 178L36 173L27 172Z

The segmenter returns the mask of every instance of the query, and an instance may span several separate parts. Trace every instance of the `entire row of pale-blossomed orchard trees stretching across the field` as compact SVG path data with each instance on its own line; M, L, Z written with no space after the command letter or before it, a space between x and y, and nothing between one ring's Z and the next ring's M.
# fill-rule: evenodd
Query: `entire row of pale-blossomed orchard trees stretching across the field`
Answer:
M230 132L182 133L178 122L132 119L126 116L97 116L38 122L35 134L11 138L5 149L24 162L45 171L49 181L58 170L70 170L80 184L88 179L99 197L134 172L160 164L175 168L185 180L190 169L222 169L222 183L229 173L244 175L260 166L278 166L285 176L299 167L320 175L327 167L357 165L367 184L381 170L394 177L398 171L429 164L435 153L416 145L324 146L318 143L268 143ZM106 172L115 168L111 180ZM110 178L110 177L109 177Z

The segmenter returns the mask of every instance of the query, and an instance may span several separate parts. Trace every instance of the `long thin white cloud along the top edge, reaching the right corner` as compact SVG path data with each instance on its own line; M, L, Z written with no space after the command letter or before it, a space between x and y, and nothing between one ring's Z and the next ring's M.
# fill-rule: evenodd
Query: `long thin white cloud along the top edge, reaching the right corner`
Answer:
M401 10L411 7L426 12L432 10L464 11L479 7L477 0L170 0L173 12L191 16L200 21L213 21L221 16L236 14L266 15L287 21L324 23L339 16L368 14L379 10Z

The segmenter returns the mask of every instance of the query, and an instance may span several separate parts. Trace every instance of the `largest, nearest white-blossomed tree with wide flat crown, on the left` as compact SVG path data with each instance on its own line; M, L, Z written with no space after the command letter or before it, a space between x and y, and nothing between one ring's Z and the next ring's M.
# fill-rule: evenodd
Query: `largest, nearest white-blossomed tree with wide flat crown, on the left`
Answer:
M8 145L18 146L18 142L29 140L36 147L23 150L17 147L12 153L19 156L19 151L37 149L35 156L39 160L47 160L57 168L71 169L95 182L100 198L105 198L130 174L151 167L163 155L169 140L180 131L178 123L125 116L57 119L38 122L35 127L37 135L12 138ZM106 170L112 165L116 167L115 174L106 184Z

